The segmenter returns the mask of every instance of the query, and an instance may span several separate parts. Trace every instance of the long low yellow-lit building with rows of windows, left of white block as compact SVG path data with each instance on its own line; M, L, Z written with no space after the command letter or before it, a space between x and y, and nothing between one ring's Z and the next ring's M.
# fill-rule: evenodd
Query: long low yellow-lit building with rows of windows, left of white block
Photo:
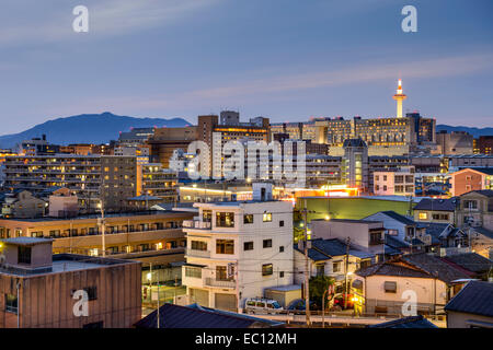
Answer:
M74 218L0 219L0 238L53 238L54 254L74 253L169 262L183 259L186 211L146 211Z

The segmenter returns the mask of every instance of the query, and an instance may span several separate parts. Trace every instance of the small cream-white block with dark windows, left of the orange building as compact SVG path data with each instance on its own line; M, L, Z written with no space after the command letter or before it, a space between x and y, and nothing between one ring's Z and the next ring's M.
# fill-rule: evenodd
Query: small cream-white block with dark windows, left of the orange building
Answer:
M375 172L374 194L377 196L413 196L414 167L404 166L397 172Z

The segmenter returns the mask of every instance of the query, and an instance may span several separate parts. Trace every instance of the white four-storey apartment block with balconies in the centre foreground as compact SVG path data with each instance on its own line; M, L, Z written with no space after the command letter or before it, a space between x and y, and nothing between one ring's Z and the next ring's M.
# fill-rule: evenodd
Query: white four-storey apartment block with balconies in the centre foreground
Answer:
M293 284L291 203L267 198L194 207L198 217L183 224L182 282L191 302L237 311L266 288Z

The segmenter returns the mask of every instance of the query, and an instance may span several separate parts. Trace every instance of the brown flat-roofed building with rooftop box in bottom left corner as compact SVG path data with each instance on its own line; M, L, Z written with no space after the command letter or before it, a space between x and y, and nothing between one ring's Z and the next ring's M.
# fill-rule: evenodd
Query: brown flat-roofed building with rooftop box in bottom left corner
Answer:
M140 262L51 255L45 238L1 244L0 328L130 328L140 319Z

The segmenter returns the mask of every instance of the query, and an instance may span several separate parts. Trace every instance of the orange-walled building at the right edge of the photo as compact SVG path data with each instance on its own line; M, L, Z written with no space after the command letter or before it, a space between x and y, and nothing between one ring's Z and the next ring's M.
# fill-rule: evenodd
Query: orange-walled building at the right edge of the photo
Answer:
M450 174L452 197L471 190L493 189L493 167L463 168Z

